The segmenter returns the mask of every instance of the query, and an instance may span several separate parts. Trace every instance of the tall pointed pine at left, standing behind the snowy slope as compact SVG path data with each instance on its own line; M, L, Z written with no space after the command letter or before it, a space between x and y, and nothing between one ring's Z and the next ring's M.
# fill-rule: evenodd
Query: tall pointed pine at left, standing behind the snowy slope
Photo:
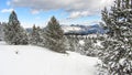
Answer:
M4 40L9 44L28 44L28 35L24 29L20 25L14 11L9 17L8 24L4 25Z

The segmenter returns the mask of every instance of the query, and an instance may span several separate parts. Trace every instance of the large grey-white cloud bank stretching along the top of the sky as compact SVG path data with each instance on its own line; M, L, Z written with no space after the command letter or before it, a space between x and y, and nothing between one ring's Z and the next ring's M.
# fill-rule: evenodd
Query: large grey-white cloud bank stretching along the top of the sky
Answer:
M35 9L33 13L37 13L40 10L63 9L69 12L69 18L79 18L97 14L103 7L109 7L112 2L113 0L11 0L10 6Z

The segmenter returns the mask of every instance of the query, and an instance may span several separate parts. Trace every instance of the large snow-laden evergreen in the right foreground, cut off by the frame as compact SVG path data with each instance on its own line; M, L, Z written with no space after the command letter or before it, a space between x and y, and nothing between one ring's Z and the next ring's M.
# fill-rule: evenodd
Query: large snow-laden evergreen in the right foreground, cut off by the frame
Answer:
M132 0L116 0L102 20L109 32L100 58L108 75L132 75Z

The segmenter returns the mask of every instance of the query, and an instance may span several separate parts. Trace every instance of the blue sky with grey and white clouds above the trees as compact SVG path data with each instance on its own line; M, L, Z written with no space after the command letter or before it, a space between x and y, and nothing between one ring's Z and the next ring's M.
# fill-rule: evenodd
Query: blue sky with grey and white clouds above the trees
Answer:
M51 17L61 24L91 25L101 21L101 10L113 0L0 0L0 22L8 22L12 10L23 28L45 26Z

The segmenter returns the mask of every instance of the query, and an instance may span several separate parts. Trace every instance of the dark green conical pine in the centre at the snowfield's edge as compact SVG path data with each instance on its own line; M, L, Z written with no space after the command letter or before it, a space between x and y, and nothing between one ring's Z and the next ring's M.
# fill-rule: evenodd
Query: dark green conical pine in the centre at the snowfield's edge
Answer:
M45 46L50 50L65 53L65 38L64 32L58 23L58 21L55 19L55 17L51 18L51 21L48 22L47 26L45 28Z

